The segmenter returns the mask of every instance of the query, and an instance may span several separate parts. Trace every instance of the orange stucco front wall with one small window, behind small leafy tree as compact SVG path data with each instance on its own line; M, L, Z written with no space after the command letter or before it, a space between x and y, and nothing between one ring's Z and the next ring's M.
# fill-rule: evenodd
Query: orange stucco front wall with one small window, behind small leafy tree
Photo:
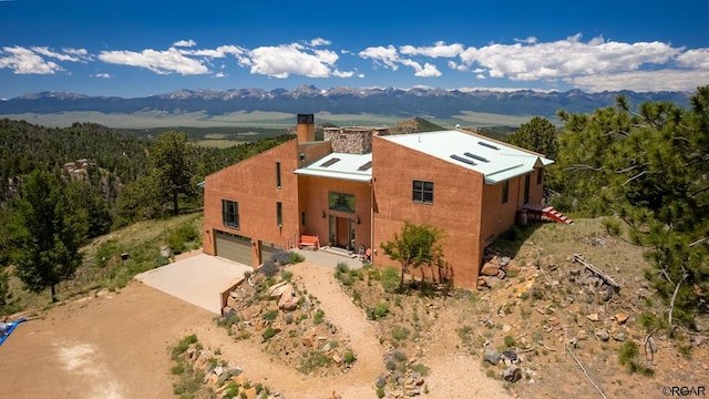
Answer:
M374 264L399 266L383 255L381 244L401 231L403 221L431 224L445 232L443 250L454 284L474 289L482 259L482 175L381 137L372 144ZM432 204L412 201L414 180L434 183Z

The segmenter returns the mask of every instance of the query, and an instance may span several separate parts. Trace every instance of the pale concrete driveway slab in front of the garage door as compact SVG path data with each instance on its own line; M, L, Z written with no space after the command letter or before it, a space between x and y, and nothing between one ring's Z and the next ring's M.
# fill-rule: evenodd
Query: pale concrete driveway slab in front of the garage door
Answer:
M250 266L197 254L135 276L135 279L184 301L222 314L222 291L244 277Z

